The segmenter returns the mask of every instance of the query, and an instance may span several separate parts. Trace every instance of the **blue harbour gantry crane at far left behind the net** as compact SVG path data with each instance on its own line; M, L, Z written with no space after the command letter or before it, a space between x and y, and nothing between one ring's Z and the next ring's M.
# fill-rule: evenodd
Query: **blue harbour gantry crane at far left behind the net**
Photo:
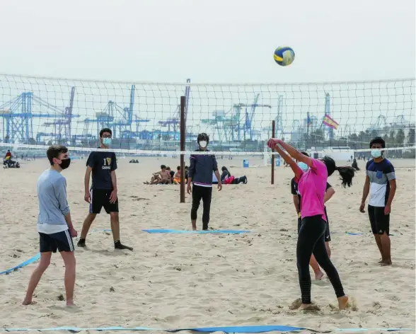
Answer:
M59 121L68 116L65 110L35 96L33 92L24 92L0 105L0 117L3 123L4 142L33 144L37 132L33 129L34 118ZM79 117L79 115L71 114L71 117Z

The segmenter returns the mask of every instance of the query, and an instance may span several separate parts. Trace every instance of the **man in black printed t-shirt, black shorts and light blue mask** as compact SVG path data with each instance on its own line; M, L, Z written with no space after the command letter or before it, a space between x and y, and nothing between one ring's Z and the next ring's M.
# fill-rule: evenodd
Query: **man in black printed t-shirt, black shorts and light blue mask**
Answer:
M98 149L108 149L111 144L112 132L105 128L100 131L100 147ZM114 238L114 248L128 249L133 248L123 245L120 242L120 221L118 217L118 198L117 198L117 178L115 170L117 161L114 152L93 151L86 162L86 173L84 178L85 196L84 200L90 204L90 210L85 221L83 221L81 238L78 246L85 247L88 230L96 219L97 214L104 208L110 214L112 237ZM93 175L93 182L90 184L90 175Z

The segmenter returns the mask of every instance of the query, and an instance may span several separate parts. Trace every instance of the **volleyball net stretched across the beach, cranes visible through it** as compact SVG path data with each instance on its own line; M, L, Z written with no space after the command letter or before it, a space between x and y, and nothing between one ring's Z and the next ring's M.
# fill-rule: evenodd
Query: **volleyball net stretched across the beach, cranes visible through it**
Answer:
M412 157L415 79L195 84L0 74L0 150L64 144L83 154L105 127L111 149L126 156L191 154L205 132L222 156L269 157L270 137L302 151L365 155L380 136L389 154Z

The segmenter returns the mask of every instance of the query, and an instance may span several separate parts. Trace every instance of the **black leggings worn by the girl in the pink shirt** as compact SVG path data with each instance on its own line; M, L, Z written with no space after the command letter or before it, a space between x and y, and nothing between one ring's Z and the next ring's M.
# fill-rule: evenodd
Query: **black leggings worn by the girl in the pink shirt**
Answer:
M325 247L326 221L321 215L305 217L299 230L296 246L296 260L299 272L299 285L301 286L302 304L311 304L311 273L309 261L315 255L316 261L326 272L337 298L345 296L340 276L331 262Z

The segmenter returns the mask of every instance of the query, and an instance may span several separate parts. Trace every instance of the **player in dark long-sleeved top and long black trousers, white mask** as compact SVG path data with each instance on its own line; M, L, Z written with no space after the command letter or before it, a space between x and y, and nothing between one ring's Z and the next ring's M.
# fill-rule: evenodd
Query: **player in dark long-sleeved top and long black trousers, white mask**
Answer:
M198 146L200 146L197 151L208 151L207 145L209 143L209 137L206 133L198 134L197 141ZM201 200L204 207L204 212L202 213L202 229L208 229L209 211L211 209L212 198L213 171L216 175L216 178L218 179L218 190L221 190L221 177L218 172L218 164L216 163L214 154L192 154L190 156L190 168L187 178L187 193L191 193L191 183L193 183L191 221L192 230L194 231L197 229L197 211L200 207Z

